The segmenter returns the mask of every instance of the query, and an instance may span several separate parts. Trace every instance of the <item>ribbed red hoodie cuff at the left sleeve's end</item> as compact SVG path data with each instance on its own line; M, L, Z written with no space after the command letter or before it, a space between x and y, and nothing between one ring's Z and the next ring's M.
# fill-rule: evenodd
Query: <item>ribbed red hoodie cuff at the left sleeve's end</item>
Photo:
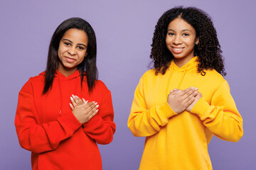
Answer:
M73 115L73 113L60 116L59 118L57 118L57 120L60 123L60 125L62 125L63 128L67 128L71 134L73 134L75 130L78 130L78 128L80 128L82 125L78 121L78 119L75 118L75 115Z

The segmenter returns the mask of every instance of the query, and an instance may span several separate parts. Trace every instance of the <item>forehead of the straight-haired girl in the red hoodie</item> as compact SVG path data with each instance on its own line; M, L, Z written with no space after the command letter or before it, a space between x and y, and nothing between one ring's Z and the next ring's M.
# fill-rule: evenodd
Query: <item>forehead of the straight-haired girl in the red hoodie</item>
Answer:
M65 32L62 39L68 39L73 42L88 42L88 37L85 31L71 28Z

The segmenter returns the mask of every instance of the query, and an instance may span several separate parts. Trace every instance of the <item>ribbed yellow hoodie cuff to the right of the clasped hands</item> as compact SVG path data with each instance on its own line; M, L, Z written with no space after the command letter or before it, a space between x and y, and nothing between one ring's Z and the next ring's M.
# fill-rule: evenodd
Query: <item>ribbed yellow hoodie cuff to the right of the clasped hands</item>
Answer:
M197 114L200 118L207 113L207 110L210 108L209 103L207 103L203 98L200 98L193 106L191 113Z

